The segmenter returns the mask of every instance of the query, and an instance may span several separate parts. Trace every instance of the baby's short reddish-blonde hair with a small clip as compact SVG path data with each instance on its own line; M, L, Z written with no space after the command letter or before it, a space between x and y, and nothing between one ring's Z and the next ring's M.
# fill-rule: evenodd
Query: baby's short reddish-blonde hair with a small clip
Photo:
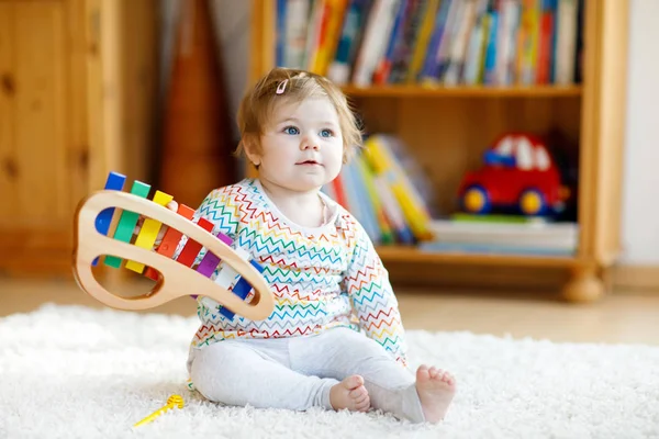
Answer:
M237 116L241 143L236 155L243 155L250 145L260 149L259 138L270 123L278 103L302 102L316 97L330 99L336 109L343 136L344 162L347 162L361 146L361 131L346 95L323 76L282 67L270 70L243 98Z

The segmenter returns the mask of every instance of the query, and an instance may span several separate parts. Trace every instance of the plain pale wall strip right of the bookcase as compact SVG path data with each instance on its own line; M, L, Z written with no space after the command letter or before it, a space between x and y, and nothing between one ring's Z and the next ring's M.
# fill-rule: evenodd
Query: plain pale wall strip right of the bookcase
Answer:
M632 0L623 263L659 264L659 1Z

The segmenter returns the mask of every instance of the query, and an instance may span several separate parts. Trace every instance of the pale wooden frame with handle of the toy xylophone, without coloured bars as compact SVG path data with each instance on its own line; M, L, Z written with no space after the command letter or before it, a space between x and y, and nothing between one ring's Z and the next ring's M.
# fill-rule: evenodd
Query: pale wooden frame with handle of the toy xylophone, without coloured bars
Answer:
M204 246L208 251L222 258L249 282L255 290L250 303L220 286L211 279L155 251L136 247L100 234L96 218L108 207L118 207L139 213L168 225L190 239ZM88 294L105 305L120 309L146 309L190 294L205 295L226 306L232 312L253 320L267 318L275 308L270 286L249 262L231 247L193 222L149 200L121 191L98 191L83 199L76 211L74 243L74 274ZM102 255L112 255L126 260L142 262L163 273L149 294L137 297L121 297L105 290L91 271L92 261Z

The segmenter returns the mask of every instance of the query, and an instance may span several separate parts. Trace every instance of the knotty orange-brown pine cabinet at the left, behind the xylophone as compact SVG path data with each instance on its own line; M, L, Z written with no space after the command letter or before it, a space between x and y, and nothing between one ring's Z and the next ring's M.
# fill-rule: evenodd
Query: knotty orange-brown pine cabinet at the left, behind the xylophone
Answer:
M0 1L0 272L70 274L72 215L148 172L155 0Z

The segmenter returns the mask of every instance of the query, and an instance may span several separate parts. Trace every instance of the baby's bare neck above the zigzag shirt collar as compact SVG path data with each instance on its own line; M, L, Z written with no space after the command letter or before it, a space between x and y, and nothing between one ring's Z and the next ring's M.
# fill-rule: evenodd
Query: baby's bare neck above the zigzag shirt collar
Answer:
M270 201L289 219L304 227L323 225L325 203L321 200L319 190L300 192L263 179L259 182Z

